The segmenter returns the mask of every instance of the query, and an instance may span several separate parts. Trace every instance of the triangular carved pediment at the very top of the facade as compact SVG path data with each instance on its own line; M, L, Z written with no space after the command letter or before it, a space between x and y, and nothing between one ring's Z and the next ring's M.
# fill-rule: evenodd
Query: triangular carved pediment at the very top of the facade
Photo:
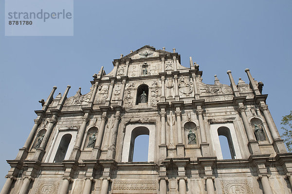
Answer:
M122 59L152 58L152 57L158 57L160 54L168 54L169 55L171 53L167 52L167 51L163 51L163 50L156 50L154 47L151 47L149 45L145 45L144 47L141 47L140 49L122 57Z

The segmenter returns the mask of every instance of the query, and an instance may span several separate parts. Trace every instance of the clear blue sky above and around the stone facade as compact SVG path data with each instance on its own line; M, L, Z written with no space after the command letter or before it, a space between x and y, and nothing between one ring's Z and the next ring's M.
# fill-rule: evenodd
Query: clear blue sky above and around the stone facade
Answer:
M292 110L291 0L75 0L74 35L64 37L4 36L4 0L0 1L0 188L34 124L37 102L53 86L63 94L67 85L82 94L92 75L112 60L144 45L172 48L189 67L200 65L203 82L230 85L249 68L269 94L267 104L277 128Z

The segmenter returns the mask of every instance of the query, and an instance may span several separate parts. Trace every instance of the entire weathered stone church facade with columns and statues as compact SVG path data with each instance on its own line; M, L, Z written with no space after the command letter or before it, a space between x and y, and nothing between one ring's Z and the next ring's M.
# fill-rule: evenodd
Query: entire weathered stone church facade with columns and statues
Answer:
M144 46L42 109L0 194L291 194L287 153L261 82L202 82L199 65ZM132 162L149 135L148 161ZM232 159L223 159L219 136Z

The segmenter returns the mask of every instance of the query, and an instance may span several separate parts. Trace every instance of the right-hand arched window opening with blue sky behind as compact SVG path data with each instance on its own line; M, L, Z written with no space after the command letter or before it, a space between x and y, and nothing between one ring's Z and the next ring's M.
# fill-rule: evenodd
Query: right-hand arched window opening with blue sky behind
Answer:
M229 128L225 126L221 126L218 128L217 131L218 131L223 159L236 159L234 145L233 145ZM220 136L223 136L223 137L220 137ZM229 152L228 152L228 147L229 147Z

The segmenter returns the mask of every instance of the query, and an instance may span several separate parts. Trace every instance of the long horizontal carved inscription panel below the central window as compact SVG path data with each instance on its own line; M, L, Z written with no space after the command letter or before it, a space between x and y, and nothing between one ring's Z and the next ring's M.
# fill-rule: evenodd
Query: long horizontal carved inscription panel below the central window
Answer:
M156 190L155 180L116 180L114 181L114 190Z

